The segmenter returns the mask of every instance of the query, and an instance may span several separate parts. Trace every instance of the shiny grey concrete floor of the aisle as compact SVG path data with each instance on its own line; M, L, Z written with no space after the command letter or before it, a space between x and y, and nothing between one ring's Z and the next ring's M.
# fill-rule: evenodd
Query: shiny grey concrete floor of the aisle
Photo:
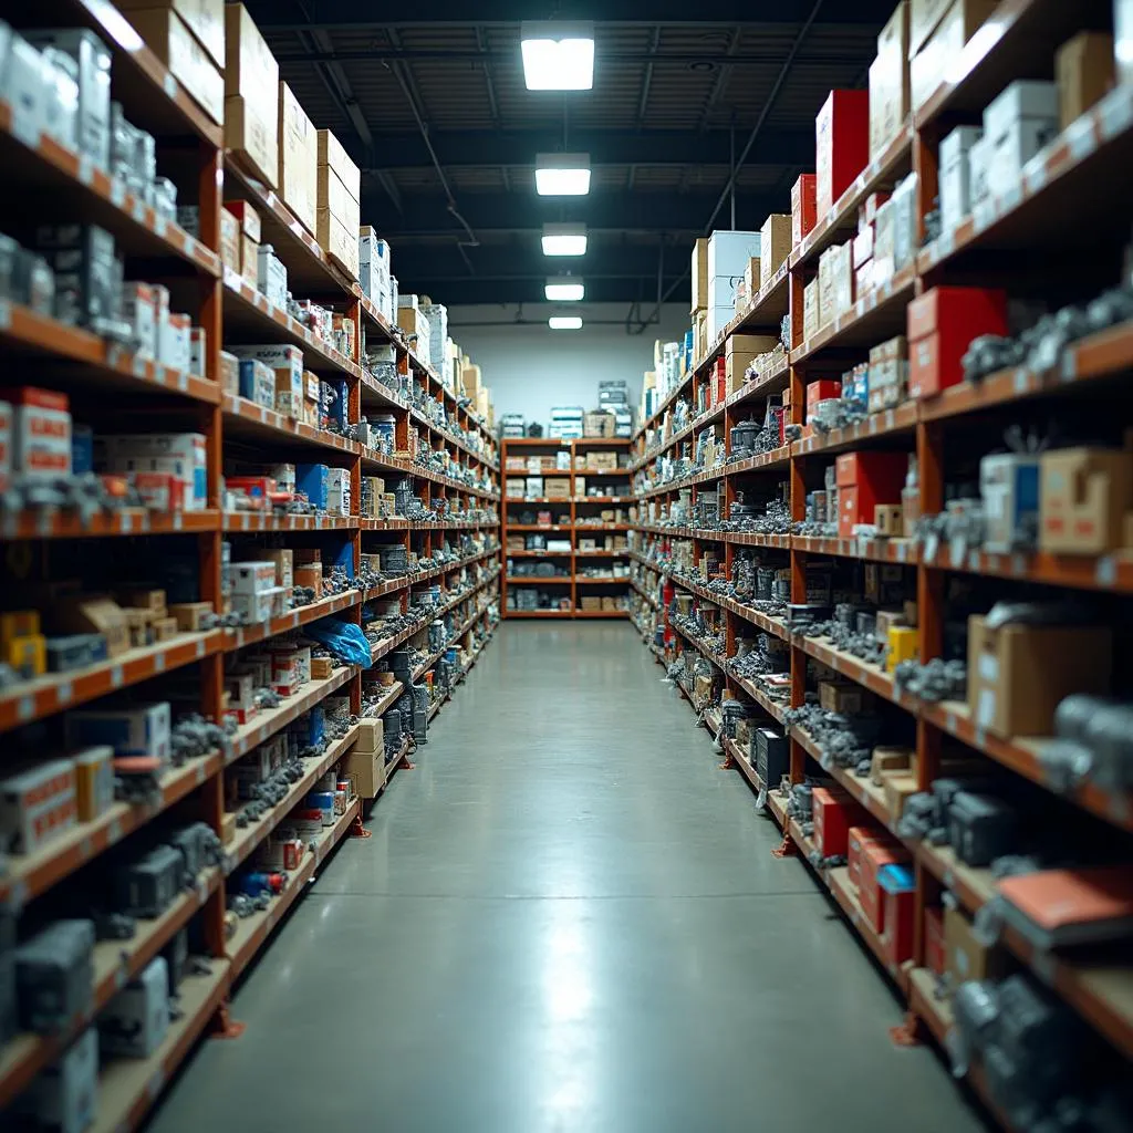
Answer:
M983 1128L625 623L509 623L154 1133Z

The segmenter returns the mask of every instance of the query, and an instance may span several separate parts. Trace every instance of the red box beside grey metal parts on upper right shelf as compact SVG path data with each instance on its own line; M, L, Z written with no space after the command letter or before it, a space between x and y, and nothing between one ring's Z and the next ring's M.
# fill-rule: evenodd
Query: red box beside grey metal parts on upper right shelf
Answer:
M1007 296L978 287L937 287L909 304L909 397L930 398L964 376L973 339L1007 333Z

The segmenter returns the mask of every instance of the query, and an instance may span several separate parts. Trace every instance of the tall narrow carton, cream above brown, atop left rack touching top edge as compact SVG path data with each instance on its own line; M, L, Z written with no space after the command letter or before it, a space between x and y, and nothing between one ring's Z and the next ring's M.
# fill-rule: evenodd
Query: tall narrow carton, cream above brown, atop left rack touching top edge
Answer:
M279 176L275 57L242 3L224 7L224 145L267 188Z

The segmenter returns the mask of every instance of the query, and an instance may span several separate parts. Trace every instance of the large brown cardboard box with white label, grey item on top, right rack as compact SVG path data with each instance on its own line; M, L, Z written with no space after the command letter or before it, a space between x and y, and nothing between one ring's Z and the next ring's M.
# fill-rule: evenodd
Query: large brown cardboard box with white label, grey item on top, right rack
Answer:
M968 706L977 727L1004 739L1050 735L1072 692L1109 691L1113 631L1089 625L1004 625L968 619Z

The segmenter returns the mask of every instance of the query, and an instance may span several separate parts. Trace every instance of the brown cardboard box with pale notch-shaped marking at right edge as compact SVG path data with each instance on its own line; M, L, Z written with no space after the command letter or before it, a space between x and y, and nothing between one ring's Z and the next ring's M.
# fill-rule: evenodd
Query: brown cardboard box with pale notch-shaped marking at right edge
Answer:
M1042 454L1040 467L1040 551L1100 555L1123 545L1133 511L1133 452L1056 449Z

